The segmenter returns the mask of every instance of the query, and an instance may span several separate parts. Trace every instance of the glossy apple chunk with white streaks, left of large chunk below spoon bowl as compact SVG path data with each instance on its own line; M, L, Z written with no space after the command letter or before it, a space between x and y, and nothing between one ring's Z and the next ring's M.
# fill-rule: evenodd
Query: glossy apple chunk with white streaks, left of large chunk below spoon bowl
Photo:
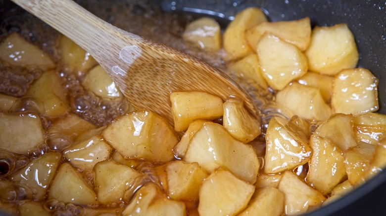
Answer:
M99 161L107 160L111 150L111 146L102 139L102 136L97 135L70 145L63 150L63 154L74 167L84 171L93 169Z

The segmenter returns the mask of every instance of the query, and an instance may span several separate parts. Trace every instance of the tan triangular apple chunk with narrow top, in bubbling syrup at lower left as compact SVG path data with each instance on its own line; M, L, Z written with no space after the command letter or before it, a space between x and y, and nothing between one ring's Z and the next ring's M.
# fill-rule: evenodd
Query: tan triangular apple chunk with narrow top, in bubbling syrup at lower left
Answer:
M97 195L93 188L83 179L81 173L69 163L60 165L48 192L48 199L79 205L93 205Z

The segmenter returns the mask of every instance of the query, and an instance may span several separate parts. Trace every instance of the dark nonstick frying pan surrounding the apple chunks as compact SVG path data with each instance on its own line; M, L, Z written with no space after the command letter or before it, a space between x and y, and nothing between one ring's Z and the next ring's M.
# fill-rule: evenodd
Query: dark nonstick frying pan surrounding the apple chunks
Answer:
M78 0L79 1L79 0ZM139 5L144 1L132 0ZM85 0L79 3L94 14L108 13L119 0ZM120 2L122 4L122 2ZM144 7L122 13L139 13L149 7L161 7L167 13L210 16L225 27L234 15L250 6L262 8L270 21L309 17L312 26L332 26L346 23L355 36L360 58L358 67L369 69L380 80L379 112L386 114L386 1L385 0L146 0ZM150 5L150 6L149 6ZM8 0L0 0L0 22L22 11ZM113 20L113 15L104 17ZM103 18L103 17L101 17ZM128 20L130 22L130 20ZM1 30L13 31L1 27ZM128 30L130 31L130 30ZM4 32L0 32L3 36ZM359 186L346 196L309 213L327 215L385 215L386 172ZM1 213L0 213L1 215Z

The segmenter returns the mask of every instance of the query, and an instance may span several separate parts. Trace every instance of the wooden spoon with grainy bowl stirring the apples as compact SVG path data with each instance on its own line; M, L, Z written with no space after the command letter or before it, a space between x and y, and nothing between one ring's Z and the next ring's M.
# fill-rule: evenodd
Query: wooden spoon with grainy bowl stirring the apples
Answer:
M87 50L134 108L147 108L173 124L170 93L205 91L235 96L257 113L248 94L219 69L181 51L125 32L72 0L12 0Z

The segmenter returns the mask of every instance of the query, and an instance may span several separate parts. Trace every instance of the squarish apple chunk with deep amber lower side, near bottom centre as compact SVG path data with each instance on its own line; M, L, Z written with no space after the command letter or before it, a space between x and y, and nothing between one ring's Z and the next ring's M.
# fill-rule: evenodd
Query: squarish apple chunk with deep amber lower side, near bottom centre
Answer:
M198 201L198 191L208 174L198 163L172 161L166 165L168 195L171 199Z

